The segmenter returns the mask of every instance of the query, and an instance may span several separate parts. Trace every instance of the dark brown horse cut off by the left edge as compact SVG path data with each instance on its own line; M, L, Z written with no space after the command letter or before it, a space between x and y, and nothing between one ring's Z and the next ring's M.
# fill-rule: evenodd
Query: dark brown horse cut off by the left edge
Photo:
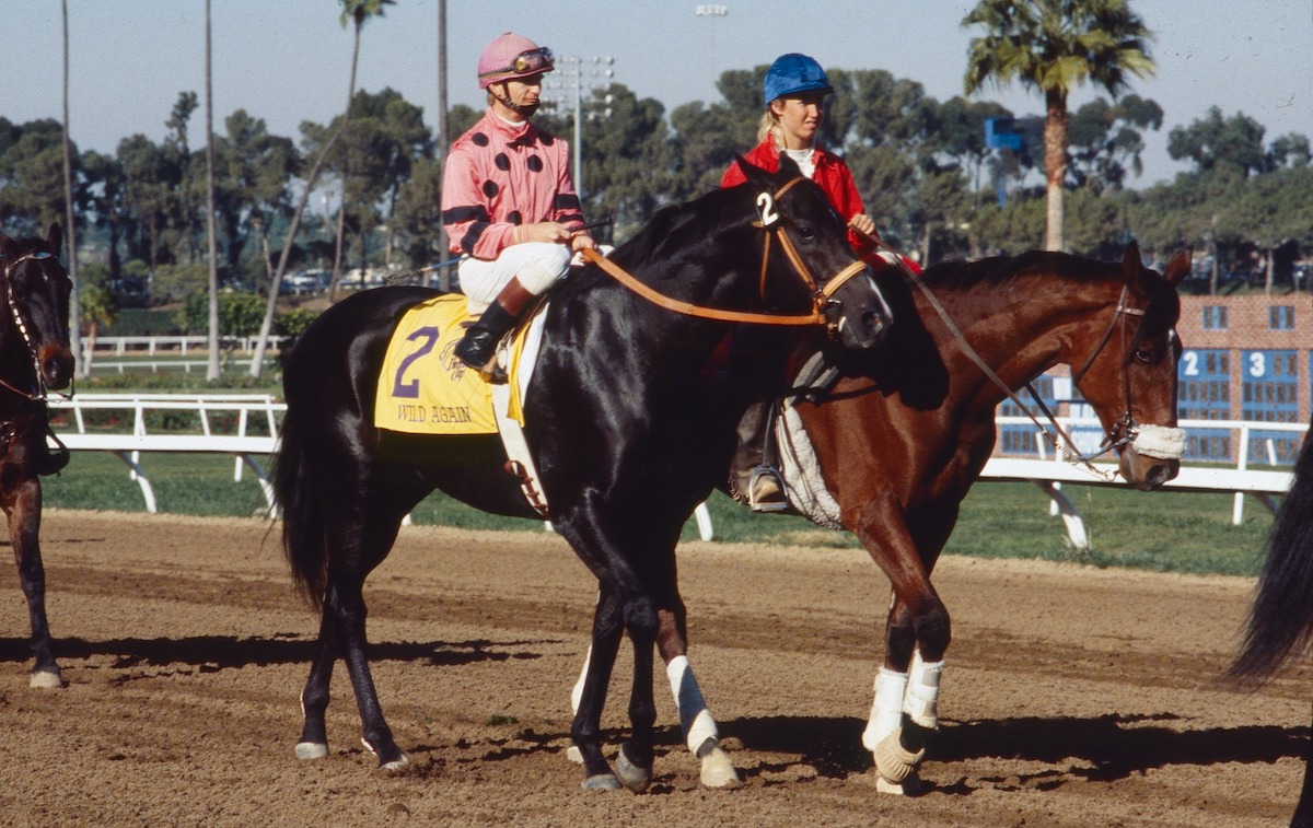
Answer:
M74 378L68 344L72 279L59 264L62 235L58 223L45 239L0 234L0 508L9 521L18 581L28 598L33 688L63 686L46 619L38 476L53 470L46 447L46 391L67 388Z

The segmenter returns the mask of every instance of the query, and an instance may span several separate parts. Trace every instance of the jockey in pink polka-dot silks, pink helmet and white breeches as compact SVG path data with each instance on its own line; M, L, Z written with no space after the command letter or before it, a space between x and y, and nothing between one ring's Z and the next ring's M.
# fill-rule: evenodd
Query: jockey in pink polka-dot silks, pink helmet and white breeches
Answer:
M583 230L566 142L538 131L542 75L551 50L509 31L479 55L483 118L452 143L442 173L442 226L471 312L456 356L490 382L506 382L496 345L534 300L596 248Z

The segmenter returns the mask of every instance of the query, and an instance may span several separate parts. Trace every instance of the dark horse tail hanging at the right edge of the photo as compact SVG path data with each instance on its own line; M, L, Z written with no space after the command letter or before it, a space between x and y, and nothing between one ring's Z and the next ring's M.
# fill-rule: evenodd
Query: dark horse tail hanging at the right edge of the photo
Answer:
M1313 432L1310 432L1313 434ZM1267 562L1258 580L1241 652L1229 674L1260 684L1292 651L1313 640L1313 440L1305 438L1295 482L1267 538Z

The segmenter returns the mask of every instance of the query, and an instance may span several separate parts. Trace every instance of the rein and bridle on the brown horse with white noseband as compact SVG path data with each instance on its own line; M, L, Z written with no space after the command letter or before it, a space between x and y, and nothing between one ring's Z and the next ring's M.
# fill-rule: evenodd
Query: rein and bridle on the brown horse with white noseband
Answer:
M926 285L922 279L916 278L916 276L907 268L907 265L903 264L902 255L898 251L892 248L889 244L885 243L884 239L880 239L878 236L872 236L869 234L864 234L860 231L855 232L867 239L869 243L874 244L877 248L888 251L889 253L893 255L894 264L905 274L907 274L907 278L910 278L913 283L916 285L920 293L926 297L926 300L930 302L930 306L935 308L935 312L943 320L949 333L953 335L953 339L957 341L958 348L962 349L962 353L965 353L970 358L970 361L976 363L976 366L981 370L981 373L985 374L986 378L989 378L990 382L998 386L998 388L1007 395L1007 399L1014 405L1022 409L1022 413L1029 417L1031 423L1035 424L1035 428L1037 428L1040 433L1044 434L1044 437L1049 441L1049 445L1053 446L1053 450L1058 451L1065 462L1083 468L1085 471L1099 478L1100 480L1104 480L1106 483L1111 483L1112 480L1116 479L1117 476L1116 471L1103 471L1095 467L1094 461L1103 457L1104 454L1120 449L1127 444L1133 442L1136 438L1137 434L1136 421L1130 413L1130 378L1127 375L1125 371L1121 373L1123 383L1125 384L1125 402L1127 402L1125 412L1113 425L1112 430L1104 429L1103 442L1099 444L1100 445L1099 451L1095 451L1094 454L1082 454L1081 449L1075 445L1075 441L1071 438L1071 434L1061 425L1058 425L1057 416L1054 416L1054 413L1049 411L1049 407L1044 404L1044 400L1040 398L1039 392L1031 383L1025 384L1025 390L1031 392L1031 396L1035 399L1035 403L1044 413L1044 417L1049 421L1049 425L1053 426L1053 430L1049 430L1049 428L1040 421L1039 416L1036 416L1036 413L1031 409L1031 407L1027 405L1024 402L1022 402L1022 399L1016 395L1016 392L1012 391L1012 388L1010 388L1006 382L1003 382L1003 379L994 371L994 369L991 369L985 362L985 360L978 353L976 353L976 349L970 346L970 344L966 341L966 337L962 336L961 329L958 329L958 327L948 316L948 311L944 308L943 304L940 304L939 299L930 290L930 286ZM1112 339L1112 332L1113 329L1116 329L1119 320L1121 320L1123 323L1121 336L1123 340L1125 340L1127 325L1123 315L1129 315L1129 316L1145 315L1144 310L1127 307L1127 290L1128 290L1127 286L1123 285L1121 295L1117 298L1117 308L1112 315L1112 321L1108 323L1108 329L1103 332L1103 337L1099 340L1098 346L1095 346L1094 352L1091 352L1090 357L1085 361L1085 365L1081 366L1081 370L1075 371L1071 375L1073 386L1081 382L1081 378L1085 377L1086 371L1090 370L1090 366L1094 363L1094 360L1103 352L1104 346L1108 344L1108 340ZM1120 437L1117 434L1120 434Z

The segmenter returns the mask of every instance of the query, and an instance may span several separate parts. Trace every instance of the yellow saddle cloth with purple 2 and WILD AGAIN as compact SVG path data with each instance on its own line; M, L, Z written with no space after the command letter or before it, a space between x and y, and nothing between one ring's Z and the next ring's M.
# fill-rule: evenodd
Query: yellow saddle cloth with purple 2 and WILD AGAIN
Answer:
M407 434L498 433L491 386L452 353L467 319L465 297L450 294L406 311L378 375L374 425ZM521 348L519 337L512 354ZM511 408L519 409L517 399Z

